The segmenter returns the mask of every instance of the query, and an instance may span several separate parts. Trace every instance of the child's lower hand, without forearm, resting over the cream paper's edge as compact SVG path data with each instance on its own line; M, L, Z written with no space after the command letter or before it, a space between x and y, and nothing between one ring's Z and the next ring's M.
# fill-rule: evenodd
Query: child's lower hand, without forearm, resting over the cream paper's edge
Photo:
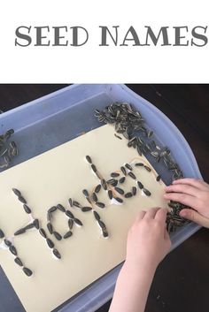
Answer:
M141 211L128 232L126 263L155 270L165 257L171 241L166 232L167 209Z

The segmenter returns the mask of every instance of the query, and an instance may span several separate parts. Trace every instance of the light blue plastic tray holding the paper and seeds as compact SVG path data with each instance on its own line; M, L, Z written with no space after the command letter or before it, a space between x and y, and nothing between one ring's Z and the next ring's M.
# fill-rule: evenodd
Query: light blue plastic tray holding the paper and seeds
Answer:
M94 110L102 110L109 103L120 101L133 103L135 108L142 112L146 124L154 129L157 141L170 148L185 176L201 179L195 157L174 124L160 110L128 87L116 84L73 85L0 115L1 133L9 128L15 130L14 140L20 153L14 158L12 165L70 141L82 132L101 126L94 117ZM151 163L168 183L166 172L163 172L159 164L152 161ZM188 224L175 232L172 235L172 248L177 247L198 229L197 224ZM112 297L120 266L66 301L56 311L87 312L101 307ZM0 311L24 311L2 269L0 285Z

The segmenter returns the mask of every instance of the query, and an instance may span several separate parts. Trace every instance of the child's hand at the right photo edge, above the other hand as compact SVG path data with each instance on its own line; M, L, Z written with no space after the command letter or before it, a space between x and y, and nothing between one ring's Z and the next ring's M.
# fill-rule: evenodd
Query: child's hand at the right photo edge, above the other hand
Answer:
M168 200L181 202L195 209L182 209L181 217L185 217L209 228L209 185L199 179L178 179L171 186L166 186ZM174 192L174 193L170 193Z

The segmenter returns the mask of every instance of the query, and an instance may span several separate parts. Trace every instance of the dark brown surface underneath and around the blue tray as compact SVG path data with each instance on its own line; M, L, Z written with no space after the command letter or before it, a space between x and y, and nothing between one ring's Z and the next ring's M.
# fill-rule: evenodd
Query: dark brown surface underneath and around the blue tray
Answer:
M0 109L12 109L63 87L65 85L0 85ZM174 122L189 142L202 176L209 183L209 86L128 87L162 110ZM97 311L108 311L109 305L110 302ZM151 285L146 312L207 311L209 230L201 229L174 249L159 265Z

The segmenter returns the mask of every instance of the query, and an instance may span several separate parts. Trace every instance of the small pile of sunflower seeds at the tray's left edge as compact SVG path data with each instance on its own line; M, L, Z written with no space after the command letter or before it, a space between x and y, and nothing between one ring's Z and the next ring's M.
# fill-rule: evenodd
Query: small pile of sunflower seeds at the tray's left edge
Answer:
M5 169L12 162L12 157L18 155L18 148L14 141L9 139L14 133L13 129L7 130L4 134L0 135L0 169Z

